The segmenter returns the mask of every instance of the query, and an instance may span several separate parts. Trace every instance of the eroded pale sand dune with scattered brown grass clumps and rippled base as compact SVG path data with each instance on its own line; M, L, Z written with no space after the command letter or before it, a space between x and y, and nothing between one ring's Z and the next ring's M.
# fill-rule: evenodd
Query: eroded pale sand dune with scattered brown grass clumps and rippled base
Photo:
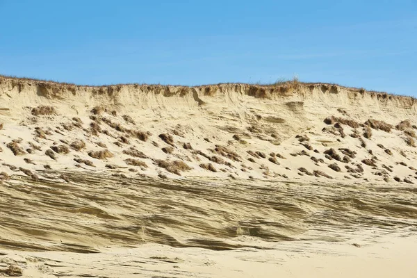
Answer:
M321 83L0 77L0 275L413 277L416 124Z

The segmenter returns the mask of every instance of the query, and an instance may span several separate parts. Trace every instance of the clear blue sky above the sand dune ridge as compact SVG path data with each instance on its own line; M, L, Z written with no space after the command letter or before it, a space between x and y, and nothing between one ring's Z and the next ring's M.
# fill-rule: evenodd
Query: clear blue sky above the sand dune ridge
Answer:
M417 1L0 0L0 74L301 81L417 96Z

